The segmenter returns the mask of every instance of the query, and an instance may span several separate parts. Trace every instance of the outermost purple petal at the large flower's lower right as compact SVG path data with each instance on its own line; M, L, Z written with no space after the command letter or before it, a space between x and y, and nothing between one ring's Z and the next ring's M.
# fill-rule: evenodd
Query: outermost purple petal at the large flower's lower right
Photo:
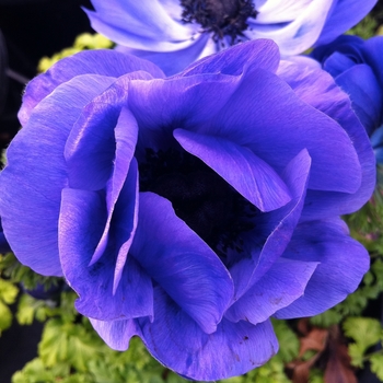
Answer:
M317 315L353 292L370 266L367 249L351 239L340 219L312 221L297 227L283 257L317 262L304 294L276 317Z

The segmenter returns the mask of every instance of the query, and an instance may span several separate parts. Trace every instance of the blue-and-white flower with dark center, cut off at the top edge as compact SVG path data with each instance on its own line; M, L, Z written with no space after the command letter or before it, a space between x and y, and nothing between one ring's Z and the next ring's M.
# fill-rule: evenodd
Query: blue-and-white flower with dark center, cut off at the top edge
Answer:
M376 0L92 0L95 31L167 76L237 42L274 39L283 56L326 44Z

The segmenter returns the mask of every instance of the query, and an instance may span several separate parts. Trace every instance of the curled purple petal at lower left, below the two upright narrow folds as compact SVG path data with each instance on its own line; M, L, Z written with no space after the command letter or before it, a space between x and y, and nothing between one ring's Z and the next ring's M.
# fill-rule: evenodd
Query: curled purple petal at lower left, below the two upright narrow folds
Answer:
M106 248L102 259L89 266L105 220L106 207L102 193L62 190L60 260L68 283L80 297L76 307L81 314L101 321L152 316L151 279L131 256L127 257L124 277L114 291L118 241Z

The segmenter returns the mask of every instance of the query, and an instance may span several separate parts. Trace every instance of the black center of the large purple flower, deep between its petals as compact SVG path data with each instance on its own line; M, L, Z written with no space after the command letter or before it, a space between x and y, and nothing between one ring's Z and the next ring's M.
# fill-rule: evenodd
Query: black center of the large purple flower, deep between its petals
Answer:
M173 149L146 150L140 190L169 199L175 213L222 258L242 252L241 234L257 209L198 158Z

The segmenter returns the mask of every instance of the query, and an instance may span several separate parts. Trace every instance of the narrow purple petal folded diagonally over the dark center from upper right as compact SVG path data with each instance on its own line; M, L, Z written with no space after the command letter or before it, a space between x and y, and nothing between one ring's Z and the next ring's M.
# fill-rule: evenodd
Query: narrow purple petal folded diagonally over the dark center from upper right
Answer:
M174 137L189 153L209 167L262 211L270 211L291 200L279 175L249 149L227 139L175 129Z

